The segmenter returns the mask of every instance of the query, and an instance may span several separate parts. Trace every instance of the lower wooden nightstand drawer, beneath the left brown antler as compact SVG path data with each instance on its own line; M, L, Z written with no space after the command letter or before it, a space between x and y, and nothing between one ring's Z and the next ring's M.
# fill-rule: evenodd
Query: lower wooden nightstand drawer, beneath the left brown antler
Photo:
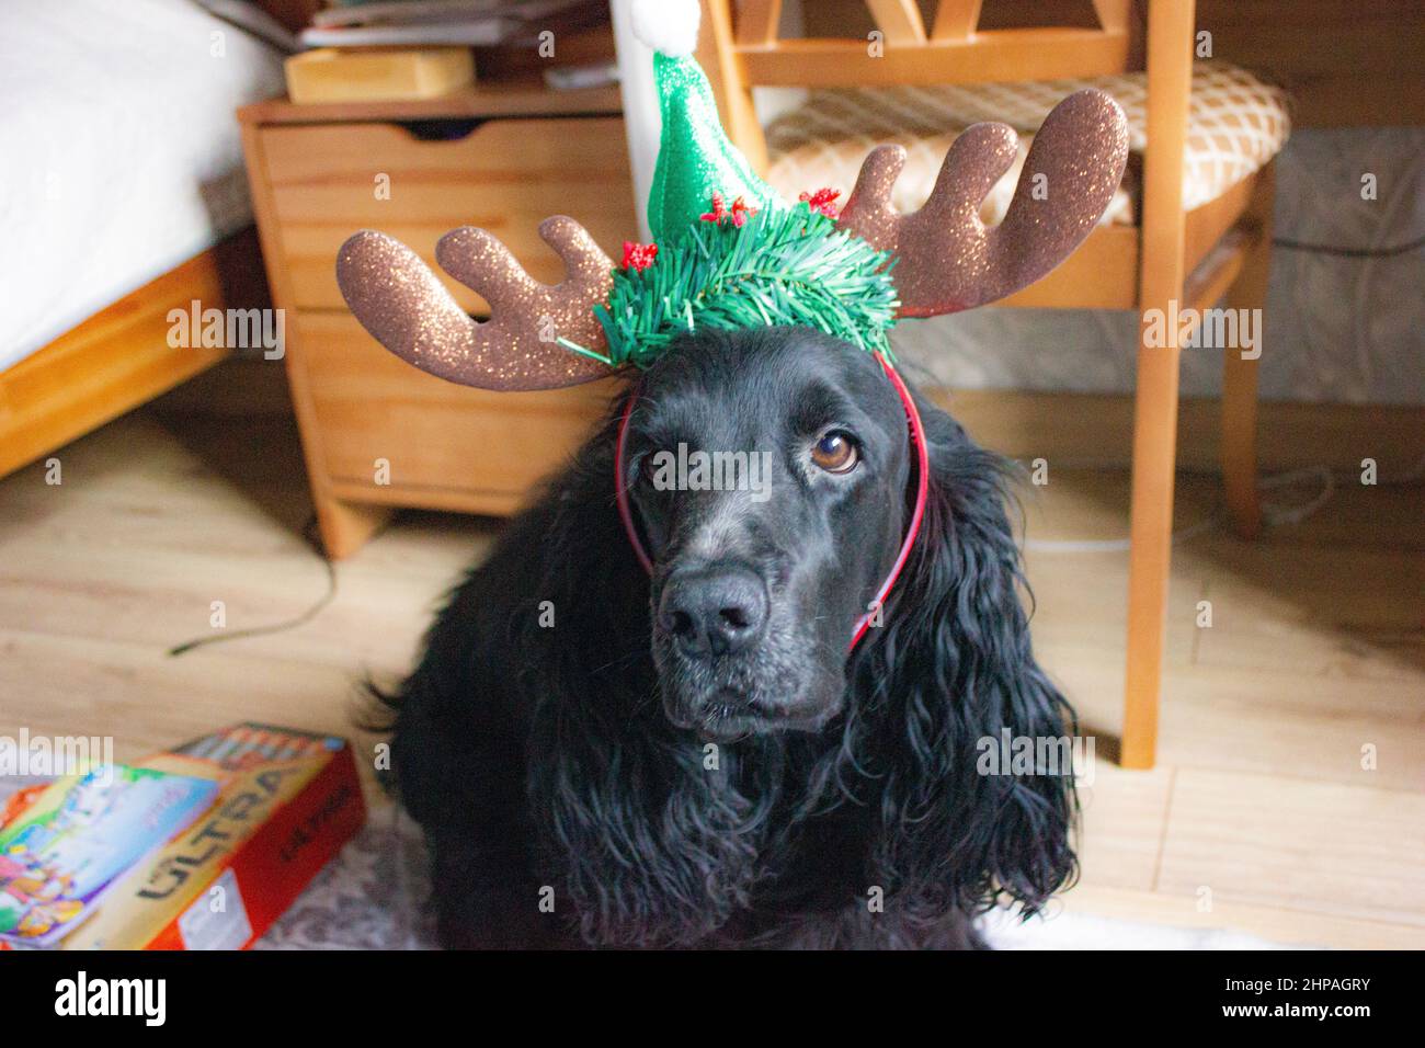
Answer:
M358 502L507 513L589 438L618 389L610 379L492 394L418 371L349 314L304 312L295 327L294 385L306 386L328 478Z

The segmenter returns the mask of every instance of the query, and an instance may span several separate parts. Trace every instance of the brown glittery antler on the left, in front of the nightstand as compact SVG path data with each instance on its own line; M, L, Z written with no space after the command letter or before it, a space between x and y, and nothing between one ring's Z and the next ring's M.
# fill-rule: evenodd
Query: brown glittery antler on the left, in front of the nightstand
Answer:
M415 251L370 230L348 240L336 282L356 319L378 342L432 375L482 389L556 389L601 378L608 365L570 352L557 339L604 348L594 307L608 298L614 264L564 215L539 235L564 261L564 279L533 279L493 235L473 225L436 245L440 268L480 292L490 319L472 319Z

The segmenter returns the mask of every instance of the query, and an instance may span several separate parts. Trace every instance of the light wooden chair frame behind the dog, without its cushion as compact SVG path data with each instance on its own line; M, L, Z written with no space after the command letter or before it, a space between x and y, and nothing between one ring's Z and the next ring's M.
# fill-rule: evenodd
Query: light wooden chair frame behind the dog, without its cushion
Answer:
M979 31L980 0L940 0L926 29L916 0L866 0L884 38L778 38L781 0L703 0L700 60L732 141L765 170L754 86L879 87L1102 77L1130 71L1131 0L1093 0L1097 27ZM1002 305L1139 309L1126 704L1120 761L1154 763L1171 556L1178 356L1183 331L1150 345L1146 317L1265 302L1273 173L1267 163L1220 197L1183 208L1193 83L1193 0L1149 0L1143 57L1147 145L1136 225L1100 225L1059 269ZM815 187L808 187L815 188ZM842 187L849 190L851 187ZM1261 526L1257 361L1226 349L1221 465L1231 525Z

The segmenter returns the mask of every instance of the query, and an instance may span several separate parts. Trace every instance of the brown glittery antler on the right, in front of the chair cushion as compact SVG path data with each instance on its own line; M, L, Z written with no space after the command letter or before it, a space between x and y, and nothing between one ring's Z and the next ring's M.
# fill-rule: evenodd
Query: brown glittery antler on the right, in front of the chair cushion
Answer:
M975 124L955 140L931 198L915 214L891 204L905 150L881 145L861 167L839 222L896 257L902 317L969 309L1019 291L1083 242L1123 178L1129 125L1103 91L1077 91L1045 120L1025 160L1005 221L986 228L979 208L1015 161L1019 137Z

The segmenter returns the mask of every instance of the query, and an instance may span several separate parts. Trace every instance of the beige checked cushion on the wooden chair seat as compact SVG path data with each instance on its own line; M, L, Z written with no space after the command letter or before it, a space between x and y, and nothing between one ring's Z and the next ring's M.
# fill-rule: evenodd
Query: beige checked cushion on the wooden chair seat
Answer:
M1033 133L1064 96L1097 87L1117 98L1129 118L1129 145L1147 144L1147 74L1124 73L1084 80L1035 80L935 87L856 87L809 91L797 108L767 128L768 181L797 200L802 191L829 185L842 198L855 185L861 161L875 145L898 143L906 165L892 200L913 211L931 195L945 151L970 124L998 120L1020 133L1019 160L985 201L982 217L998 222L1015 191ZM1183 161L1183 208L1216 200L1261 168L1291 131L1290 97L1226 61L1193 67L1187 150ZM1130 161L1103 222L1131 225L1137 214L1137 161Z

